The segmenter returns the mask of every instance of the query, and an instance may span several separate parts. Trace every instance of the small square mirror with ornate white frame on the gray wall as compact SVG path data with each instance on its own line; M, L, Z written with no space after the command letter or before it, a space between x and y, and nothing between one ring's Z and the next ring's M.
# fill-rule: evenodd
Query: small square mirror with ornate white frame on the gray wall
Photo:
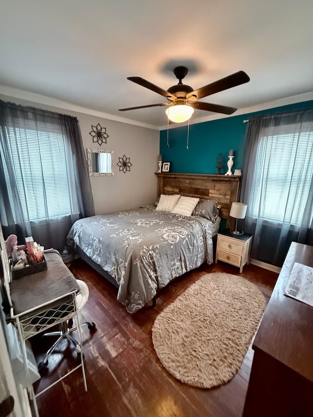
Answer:
M114 151L87 149L89 176L114 175Z

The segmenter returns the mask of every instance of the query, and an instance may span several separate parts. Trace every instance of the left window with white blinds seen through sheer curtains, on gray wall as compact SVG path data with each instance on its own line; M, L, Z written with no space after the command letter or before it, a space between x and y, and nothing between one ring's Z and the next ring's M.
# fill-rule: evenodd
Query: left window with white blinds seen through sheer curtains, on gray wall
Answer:
M75 190L73 167L71 158L67 158L67 143L61 128L58 132L55 126L50 130L48 124L40 123L37 123L37 130L31 128L31 125L21 129L5 128L25 219L58 219L78 213L77 197L72 193ZM13 203L16 190L12 189L5 164L4 174L16 221L16 205Z

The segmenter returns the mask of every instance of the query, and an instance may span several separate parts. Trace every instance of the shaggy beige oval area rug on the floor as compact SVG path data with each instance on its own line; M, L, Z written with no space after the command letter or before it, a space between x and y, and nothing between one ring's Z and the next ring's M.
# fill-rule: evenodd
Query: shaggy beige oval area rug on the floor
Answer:
M156 317L156 354L181 382L221 385L240 369L264 309L256 285L236 275L206 274Z

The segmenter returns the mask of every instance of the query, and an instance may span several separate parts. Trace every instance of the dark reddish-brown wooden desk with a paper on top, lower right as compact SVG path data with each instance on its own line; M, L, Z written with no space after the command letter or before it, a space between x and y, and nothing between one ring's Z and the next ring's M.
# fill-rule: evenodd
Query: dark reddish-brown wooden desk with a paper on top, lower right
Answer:
M284 295L295 262L313 246L291 243L252 348L244 417L313 416L313 307Z

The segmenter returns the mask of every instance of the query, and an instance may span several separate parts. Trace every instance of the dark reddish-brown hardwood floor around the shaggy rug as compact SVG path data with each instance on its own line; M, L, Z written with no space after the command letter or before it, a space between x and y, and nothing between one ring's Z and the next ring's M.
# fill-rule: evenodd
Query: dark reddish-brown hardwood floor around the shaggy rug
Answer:
M155 308L144 307L129 314L116 301L117 289L87 263L77 259L70 264L70 270L89 286L89 301L80 320L96 324L94 332L83 328L88 391L84 390L78 369L37 397L41 417L242 415L253 358L251 347L230 382L213 389L194 388L179 382L163 368L153 348L151 328L156 315L205 273L241 275L261 289L267 302L278 274L251 264L244 267L242 274L239 268L222 262L203 264L162 289ZM48 339L37 335L32 340L37 363L52 342ZM76 363L75 351L63 341L49 359L48 373L34 384L35 392Z

